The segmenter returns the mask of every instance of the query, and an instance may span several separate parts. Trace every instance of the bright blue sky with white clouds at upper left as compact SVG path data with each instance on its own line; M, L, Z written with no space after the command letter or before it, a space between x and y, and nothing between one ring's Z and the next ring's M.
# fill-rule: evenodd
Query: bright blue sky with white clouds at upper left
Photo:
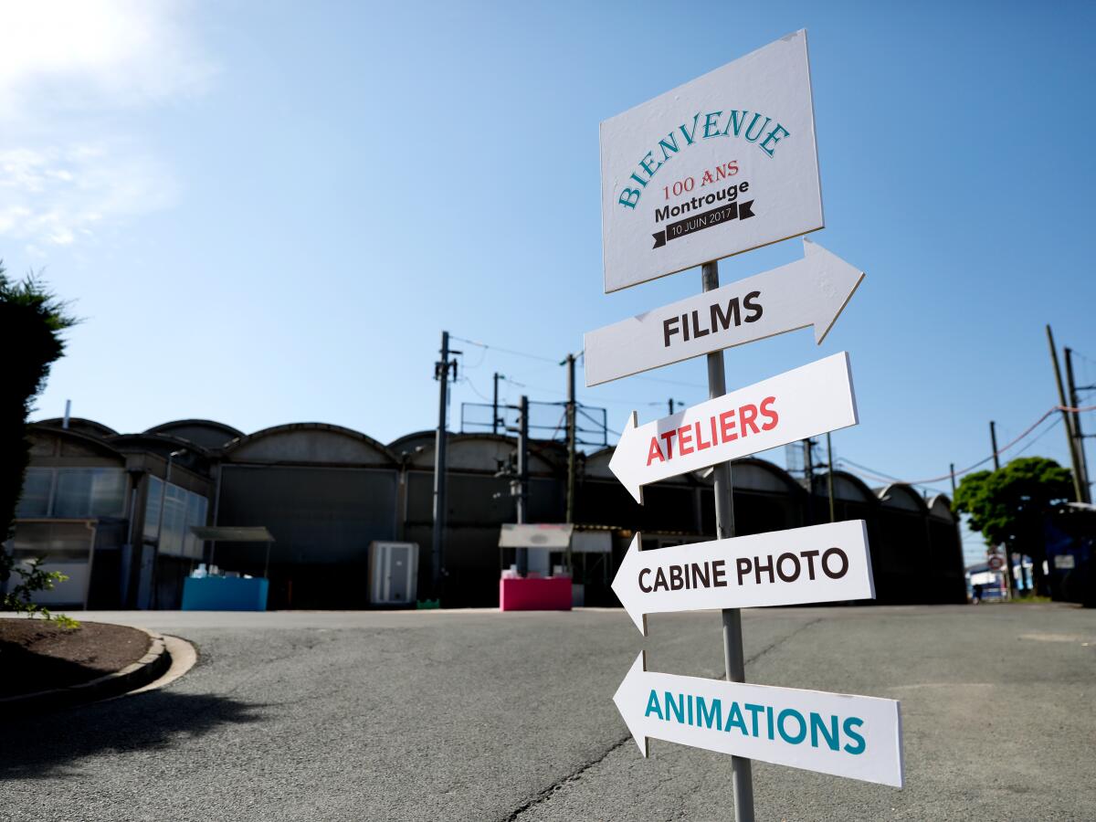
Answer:
M584 331L700 282L603 294L598 123L806 27L813 239L867 278L822 346L735 349L728 383L847 350L861 423L838 457L968 466L989 420L1007 442L1055 402L1044 323L1096 361L1094 23L1081 3L8 4L0 258L85 318L35 416L71 399L122 431L313 420L388 442L436 423L442 329L495 346L457 345L457 424L495 370L525 386L510 400L561 400ZM617 430L670 397L706 397L703 361L580 389ZM1065 461L1060 427L1025 454Z

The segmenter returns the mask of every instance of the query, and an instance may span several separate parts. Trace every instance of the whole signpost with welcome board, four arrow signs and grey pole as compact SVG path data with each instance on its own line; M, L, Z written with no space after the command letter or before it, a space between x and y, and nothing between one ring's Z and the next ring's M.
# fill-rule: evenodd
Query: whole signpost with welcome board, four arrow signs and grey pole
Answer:
M739 608L871 598L863 521L734 538L729 460L855 425L844 352L727 392L723 350L830 331L864 274L804 240L804 258L726 287L718 260L822 228L807 33L799 31L602 123L605 292L701 266L704 293L586 334L586 385L707 355L709 400L639 424L609 467L643 486L712 467L716 539L640 551L613 589L647 615L720 608L727 682L653 673L643 654L614 696L651 738L731 755L734 815L753 822L751 760L902 786L899 704L746 685Z

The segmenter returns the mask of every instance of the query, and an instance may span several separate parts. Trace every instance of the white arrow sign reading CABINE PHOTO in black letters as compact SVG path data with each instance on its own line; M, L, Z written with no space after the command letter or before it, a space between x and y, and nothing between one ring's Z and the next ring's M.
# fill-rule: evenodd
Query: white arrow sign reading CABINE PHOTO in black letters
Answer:
M647 614L874 600L868 528L849 520L641 551L636 534L613 591L647 636Z

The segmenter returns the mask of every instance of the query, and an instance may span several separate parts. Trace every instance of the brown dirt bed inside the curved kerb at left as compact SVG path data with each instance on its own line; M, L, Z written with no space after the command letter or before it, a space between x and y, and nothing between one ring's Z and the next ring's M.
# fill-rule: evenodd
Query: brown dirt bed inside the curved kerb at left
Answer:
M83 623L61 628L45 619L0 619L0 697L79 685L137 662L149 649L144 631Z

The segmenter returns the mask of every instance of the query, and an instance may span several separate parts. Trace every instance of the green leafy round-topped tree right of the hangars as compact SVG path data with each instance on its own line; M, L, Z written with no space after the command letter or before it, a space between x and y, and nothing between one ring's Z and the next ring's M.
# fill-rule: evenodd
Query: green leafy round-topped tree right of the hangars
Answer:
M1053 459L1021 457L996 471L975 471L956 489L955 507L970 515L971 530L986 546L1004 545L1008 555L1031 558L1035 590L1048 592L1043 526L1049 515L1073 499L1073 476Z

